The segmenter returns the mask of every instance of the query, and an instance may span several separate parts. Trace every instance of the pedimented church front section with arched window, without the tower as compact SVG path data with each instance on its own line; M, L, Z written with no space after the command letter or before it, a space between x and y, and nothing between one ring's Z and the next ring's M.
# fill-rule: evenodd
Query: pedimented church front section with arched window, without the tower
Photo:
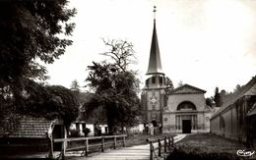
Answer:
M205 93L205 90L189 84L172 90L162 111L162 132L210 132L212 109L206 105Z

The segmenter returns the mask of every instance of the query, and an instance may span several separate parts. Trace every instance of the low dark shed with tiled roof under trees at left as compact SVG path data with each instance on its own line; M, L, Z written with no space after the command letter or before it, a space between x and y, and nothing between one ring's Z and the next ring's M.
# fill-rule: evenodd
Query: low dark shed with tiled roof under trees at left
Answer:
M0 124L0 159L52 157L62 148L53 139L67 136L63 121L57 119L21 116Z

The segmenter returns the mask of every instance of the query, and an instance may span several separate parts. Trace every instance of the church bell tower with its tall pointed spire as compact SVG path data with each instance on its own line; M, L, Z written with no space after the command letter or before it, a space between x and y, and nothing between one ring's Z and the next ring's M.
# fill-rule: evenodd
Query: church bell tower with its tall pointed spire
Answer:
M152 123L156 132L161 132L162 109L165 106L165 80L160 63L160 47L156 25L156 6L154 6L154 27L150 50L148 71L149 78L142 91L142 107L144 120Z

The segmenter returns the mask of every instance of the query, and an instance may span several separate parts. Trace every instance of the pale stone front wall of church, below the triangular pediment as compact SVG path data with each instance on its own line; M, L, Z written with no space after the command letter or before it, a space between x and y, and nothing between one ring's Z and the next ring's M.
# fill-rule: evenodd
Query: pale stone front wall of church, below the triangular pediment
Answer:
M196 111L177 111L177 107L180 103L189 101L196 106ZM196 126L192 127L191 133L206 133L210 132L210 117L212 112L204 112L206 107L205 97L203 93L188 93L188 94L171 94L168 95L167 106L164 107L162 113L162 133L182 133L182 125L179 124L180 128L177 128L177 116L180 116L179 121L185 118L186 115L193 116L194 119L191 121Z

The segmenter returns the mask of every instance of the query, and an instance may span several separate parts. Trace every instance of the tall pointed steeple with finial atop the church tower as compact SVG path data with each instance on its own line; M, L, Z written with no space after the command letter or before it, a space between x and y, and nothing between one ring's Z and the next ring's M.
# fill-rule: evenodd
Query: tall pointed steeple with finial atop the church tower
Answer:
M153 28L153 35L152 35L152 43L151 43L151 55L149 61L149 67L146 75L155 75L161 74L161 64L160 64L160 48L159 48L159 41L158 41L158 34L157 34L157 27L156 27L156 6L154 6L154 28Z

